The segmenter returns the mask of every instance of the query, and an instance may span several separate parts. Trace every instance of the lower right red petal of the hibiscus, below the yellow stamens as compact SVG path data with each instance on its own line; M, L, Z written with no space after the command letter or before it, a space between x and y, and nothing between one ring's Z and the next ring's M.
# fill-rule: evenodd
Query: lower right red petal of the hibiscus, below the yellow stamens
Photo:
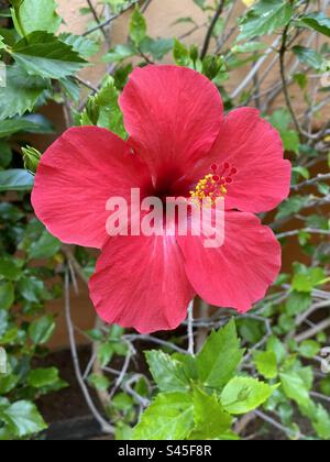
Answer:
M224 213L224 244L206 249L202 237L178 237L187 276L207 302L248 311L264 298L282 264L272 230L251 213Z

